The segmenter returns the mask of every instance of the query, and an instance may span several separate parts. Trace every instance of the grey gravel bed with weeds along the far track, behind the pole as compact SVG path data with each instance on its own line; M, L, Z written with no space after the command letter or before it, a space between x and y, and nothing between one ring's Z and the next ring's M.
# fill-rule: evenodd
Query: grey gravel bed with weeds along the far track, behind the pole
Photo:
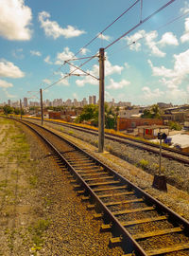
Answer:
M46 123L48 127L58 129L68 135L80 138L97 146L97 137L74 130L72 128L60 127L60 125ZM124 145L109 139L105 139L105 150L116 155L130 164L142 168L148 174L157 174L159 170L159 155L141 150L129 145ZM189 192L189 166L180 162L162 157L162 171L167 177L167 182L180 190Z

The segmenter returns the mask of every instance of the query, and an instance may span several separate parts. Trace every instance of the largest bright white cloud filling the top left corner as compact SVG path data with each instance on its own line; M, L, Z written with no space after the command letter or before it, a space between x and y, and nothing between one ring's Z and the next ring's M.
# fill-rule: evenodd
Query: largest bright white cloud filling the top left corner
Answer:
M31 9L24 0L1 0L0 35L8 40L29 40Z

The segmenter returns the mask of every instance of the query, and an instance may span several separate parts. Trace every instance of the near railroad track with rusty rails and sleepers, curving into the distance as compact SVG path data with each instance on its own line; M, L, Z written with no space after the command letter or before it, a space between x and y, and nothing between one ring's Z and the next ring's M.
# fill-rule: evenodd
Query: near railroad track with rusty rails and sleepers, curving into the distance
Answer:
M94 218L103 219L101 230L112 231L110 246L121 246L125 256L189 255L188 221L75 144L21 122L48 144Z

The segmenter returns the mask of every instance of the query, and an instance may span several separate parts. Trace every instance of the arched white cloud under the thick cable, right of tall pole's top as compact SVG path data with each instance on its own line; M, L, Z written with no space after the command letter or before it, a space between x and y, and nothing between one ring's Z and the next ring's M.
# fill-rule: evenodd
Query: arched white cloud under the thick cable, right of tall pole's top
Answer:
M148 33L146 33L145 30L139 30L135 34L127 36L125 40L128 42L129 49L139 51L141 50L141 43L139 43L139 40L144 39L145 44L150 49L152 55L155 55L157 57L164 57L165 53L158 48L158 43L155 42L155 39L157 37L158 32L156 30Z

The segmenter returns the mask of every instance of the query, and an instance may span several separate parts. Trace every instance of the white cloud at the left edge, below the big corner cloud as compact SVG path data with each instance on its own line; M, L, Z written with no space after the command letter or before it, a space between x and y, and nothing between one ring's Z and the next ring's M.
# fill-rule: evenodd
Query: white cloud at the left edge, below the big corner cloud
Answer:
M0 76L7 78L23 78L25 73L20 68L6 60L0 61Z

